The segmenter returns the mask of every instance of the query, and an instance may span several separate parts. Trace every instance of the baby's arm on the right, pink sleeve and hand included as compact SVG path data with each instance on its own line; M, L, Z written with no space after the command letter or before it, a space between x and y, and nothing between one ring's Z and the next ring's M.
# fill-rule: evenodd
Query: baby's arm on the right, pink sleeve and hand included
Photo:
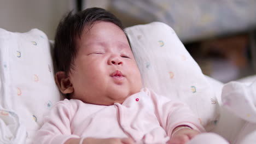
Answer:
M181 137L189 139L205 131L187 104L162 97L150 90L146 93L152 97L160 125L171 140L178 140Z

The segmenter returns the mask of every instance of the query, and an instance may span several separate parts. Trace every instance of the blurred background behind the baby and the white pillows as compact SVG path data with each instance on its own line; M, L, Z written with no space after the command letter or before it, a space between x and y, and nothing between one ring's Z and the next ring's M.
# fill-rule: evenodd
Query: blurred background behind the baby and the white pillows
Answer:
M38 28L54 39L63 15L90 7L107 9L125 27L165 22L214 79L225 83L256 74L255 0L0 0L0 28Z

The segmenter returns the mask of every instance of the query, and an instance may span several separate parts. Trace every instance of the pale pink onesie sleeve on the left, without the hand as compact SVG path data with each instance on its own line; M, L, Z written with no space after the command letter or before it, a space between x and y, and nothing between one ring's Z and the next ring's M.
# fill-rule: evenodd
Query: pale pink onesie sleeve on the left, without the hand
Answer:
M71 133L71 121L74 110L65 99L57 103L49 115L45 116L42 128L37 131L34 142L36 143L64 143L71 138L79 138Z

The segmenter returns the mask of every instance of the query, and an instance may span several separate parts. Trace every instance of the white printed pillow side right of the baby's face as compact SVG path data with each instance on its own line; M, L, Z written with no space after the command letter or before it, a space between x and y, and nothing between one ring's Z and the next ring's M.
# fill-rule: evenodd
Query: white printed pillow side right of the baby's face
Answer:
M125 29L143 86L187 103L206 130L219 119L213 87L171 27L161 22Z

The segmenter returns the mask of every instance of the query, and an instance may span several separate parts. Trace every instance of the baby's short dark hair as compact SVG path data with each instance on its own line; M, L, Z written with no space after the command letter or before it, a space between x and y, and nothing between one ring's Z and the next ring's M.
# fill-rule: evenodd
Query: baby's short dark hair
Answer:
M84 27L91 27L97 21L112 22L124 31L121 21L102 8L88 8L73 14L72 11L63 17L57 27L54 44L55 71L65 71L73 68L77 55L77 39L81 37Z

